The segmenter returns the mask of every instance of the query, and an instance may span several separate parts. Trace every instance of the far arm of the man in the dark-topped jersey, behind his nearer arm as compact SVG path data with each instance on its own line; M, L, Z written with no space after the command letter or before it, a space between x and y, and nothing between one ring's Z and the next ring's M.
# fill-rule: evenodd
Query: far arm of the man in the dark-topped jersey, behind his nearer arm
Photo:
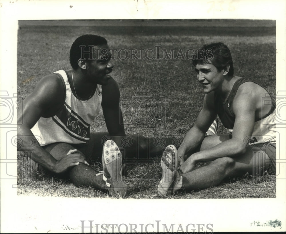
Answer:
M217 113L214 109L214 93L206 94L204 96L204 105L194 126L187 132L184 141L178 149L180 164L187 158L187 154L194 150L204 139L205 133L215 120Z

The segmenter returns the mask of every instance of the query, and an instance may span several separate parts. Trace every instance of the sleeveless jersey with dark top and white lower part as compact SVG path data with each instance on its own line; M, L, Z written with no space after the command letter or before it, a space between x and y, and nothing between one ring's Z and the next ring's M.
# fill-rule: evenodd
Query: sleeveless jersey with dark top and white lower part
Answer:
M233 114L232 108L233 99L239 86L245 82L254 82L255 84L258 84L254 80L241 78L235 82L225 102L223 102L220 96L216 93L214 96L215 108L217 110L218 116L221 119L223 126L227 128L230 132L232 132L235 122L235 115ZM260 84L258 85L261 86ZM266 115L263 113L263 118L255 119L252 136L247 136L245 138L245 143L247 143L248 145L253 145L255 143L276 143L276 125L274 122L276 108L275 100L273 96L265 96L264 98L265 100L263 100L262 98L263 103L271 104L271 110Z

